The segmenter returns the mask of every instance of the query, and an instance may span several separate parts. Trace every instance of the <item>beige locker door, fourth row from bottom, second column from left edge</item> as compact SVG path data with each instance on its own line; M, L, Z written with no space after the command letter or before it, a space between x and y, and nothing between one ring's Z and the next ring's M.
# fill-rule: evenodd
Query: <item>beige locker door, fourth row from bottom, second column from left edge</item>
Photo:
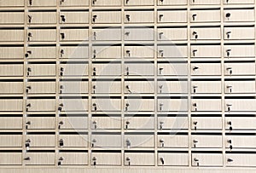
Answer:
M44 111L54 112L55 111L55 99L29 99L26 100L26 110L28 112Z

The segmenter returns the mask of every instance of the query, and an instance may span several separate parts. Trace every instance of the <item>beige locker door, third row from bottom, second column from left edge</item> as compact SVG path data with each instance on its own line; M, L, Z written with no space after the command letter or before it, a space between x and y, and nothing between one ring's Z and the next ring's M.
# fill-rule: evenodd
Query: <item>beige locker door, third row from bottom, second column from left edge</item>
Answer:
M26 117L28 130L54 130L55 117Z

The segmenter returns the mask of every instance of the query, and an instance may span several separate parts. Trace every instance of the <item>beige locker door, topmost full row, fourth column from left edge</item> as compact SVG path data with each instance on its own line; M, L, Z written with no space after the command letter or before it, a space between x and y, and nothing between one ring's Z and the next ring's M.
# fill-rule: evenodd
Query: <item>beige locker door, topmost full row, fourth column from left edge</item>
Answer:
M93 11L92 23L94 24L117 24L121 23L120 11Z

